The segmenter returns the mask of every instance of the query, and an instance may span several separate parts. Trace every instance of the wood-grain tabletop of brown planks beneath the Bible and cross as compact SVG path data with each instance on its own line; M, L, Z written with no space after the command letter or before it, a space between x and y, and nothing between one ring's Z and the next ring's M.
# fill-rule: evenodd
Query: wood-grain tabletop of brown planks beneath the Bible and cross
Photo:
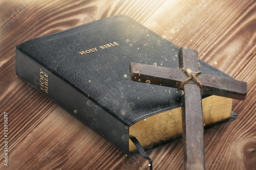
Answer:
M115 14L126 14L199 58L248 83L245 101L233 100L237 120L205 132L206 169L256 167L255 1L36 1L0 2L0 131L8 113L8 166L0 169L148 169L127 157L15 75L15 46ZM154 169L182 169L182 142L147 152Z

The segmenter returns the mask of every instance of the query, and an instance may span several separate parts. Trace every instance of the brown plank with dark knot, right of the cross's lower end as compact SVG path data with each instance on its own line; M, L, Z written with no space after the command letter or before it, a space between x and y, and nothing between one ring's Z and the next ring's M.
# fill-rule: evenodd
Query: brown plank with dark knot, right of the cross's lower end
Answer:
M211 129L205 133L206 169L254 169L256 162L256 80L254 66L256 57L239 72L236 79L248 82L245 101L233 100L233 111L238 119L230 124ZM254 74L248 76L248 70ZM223 161L225 159L225 161Z

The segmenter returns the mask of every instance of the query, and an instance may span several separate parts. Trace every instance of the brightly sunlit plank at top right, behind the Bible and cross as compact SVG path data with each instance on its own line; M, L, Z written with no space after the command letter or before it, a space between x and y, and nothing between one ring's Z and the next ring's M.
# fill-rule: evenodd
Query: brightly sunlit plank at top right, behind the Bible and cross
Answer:
M143 24L235 77L254 56L255 1L182 1L164 4ZM233 62L236 61L236 62Z

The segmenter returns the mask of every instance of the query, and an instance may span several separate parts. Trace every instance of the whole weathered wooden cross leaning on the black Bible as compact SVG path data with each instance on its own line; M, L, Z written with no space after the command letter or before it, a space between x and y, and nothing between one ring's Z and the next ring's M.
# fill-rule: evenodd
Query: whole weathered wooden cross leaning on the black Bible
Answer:
M131 63L130 79L179 88L185 79L191 77L191 73L197 75L195 72L199 71L198 62L196 50L182 47L179 50L181 69ZM199 87L200 83L202 89ZM195 80L189 80L180 88L184 92L181 96L184 169L205 169L201 92L244 100L247 94L247 83L202 73L198 74Z

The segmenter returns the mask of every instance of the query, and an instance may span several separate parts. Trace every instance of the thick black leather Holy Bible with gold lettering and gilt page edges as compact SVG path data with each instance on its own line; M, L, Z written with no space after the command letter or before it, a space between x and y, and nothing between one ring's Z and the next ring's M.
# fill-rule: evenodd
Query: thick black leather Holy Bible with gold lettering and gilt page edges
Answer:
M181 92L129 79L131 62L179 67L179 47L116 15L16 47L16 74L129 156L182 135ZM203 74L230 78L199 60ZM150 82L146 82L150 84ZM205 129L236 119L232 99L202 94Z

